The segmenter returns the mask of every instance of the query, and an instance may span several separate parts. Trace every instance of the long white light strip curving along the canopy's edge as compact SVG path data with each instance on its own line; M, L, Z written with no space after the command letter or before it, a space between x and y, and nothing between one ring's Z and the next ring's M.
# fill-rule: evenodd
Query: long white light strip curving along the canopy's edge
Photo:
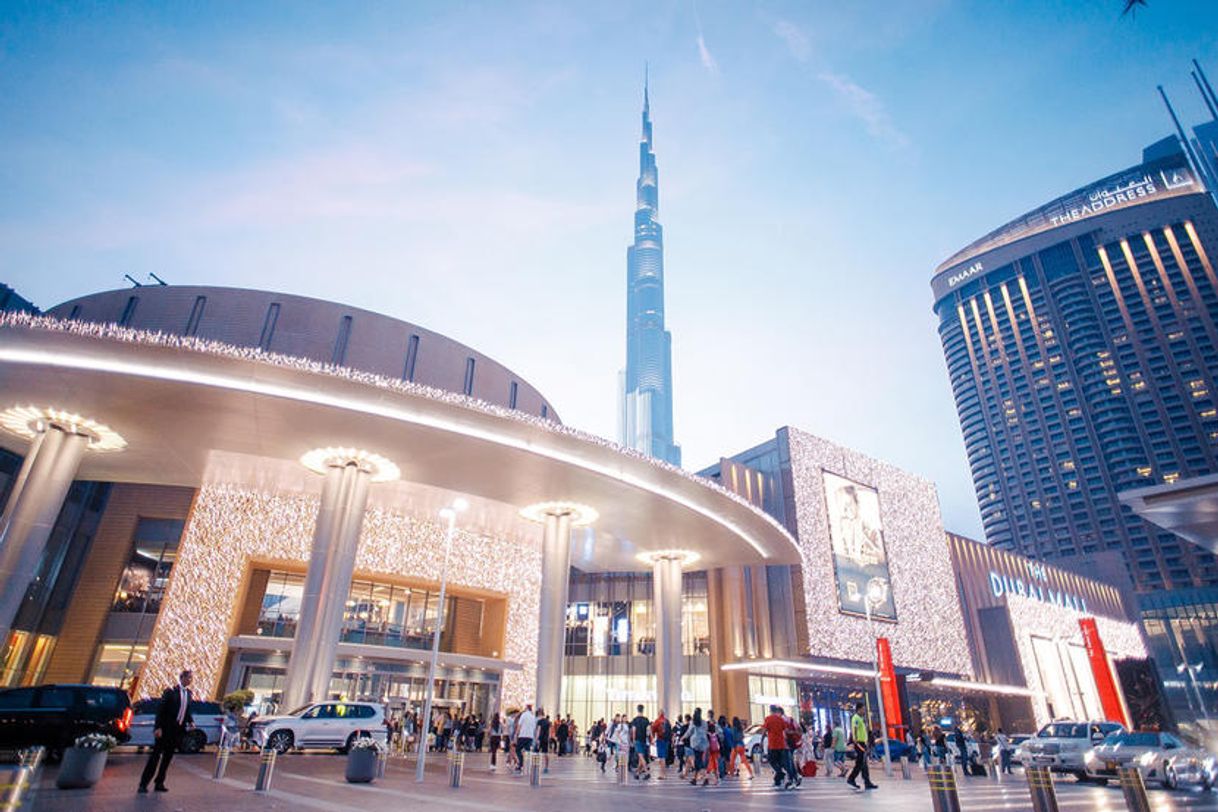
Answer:
M312 403L315 405L333 407L336 409L343 409L348 411L359 411L363 414L376 415L381 418L387 418L390 420L397 420L401 422L412 422L420 426L428 426L431 429L438 429L441 431L449 431L458 435L465 435L466 437L473 437L476 439L482 439L486 442L496 443L498 446L504 446L508 448L515 448L519 450L527 452L530 454L537 454L540 457L546 457L559 463L565 463L576 467L592 471L600 476L616 480L625 485L630 485L641 491L653 493L658 497L680 504L706 519L710 519L715 523L731 531L739 538L743 538L762 559L772 558L765 547L760 544L752 533L748 533L736 522L716 515L708 508L695 504L694 502L687 499L686 497L674 493L666 488L657 488L648 482L642 481L638 477L622 474L620 470L610 467L608 465L600 465L596 463L590 463L587 460L579 459L571 454L566 454L555 449L538 448L533 443L504 435L497 431L490 431L485 429L477 429L474 426L468 426L465 424L448 420L445 418L419 414L418 411L406 410L402 408L392 407L384 403L382 401L365 402L354 401L347 397L326 394L315 390L306 390L303 387L297 388L292 386L284 386L280 383L272 383L268 381L251 380L245 377L239 377L235 375L219 375L216 373L202 373L197 370L188 370L180 366L172 366L164 364L153 364L145 362L132 362L132 360L119 360L112 358L94 358L91 355L74 354L67 352L51 352L45 349L27 349L19 347L2 347L0 348L0 360L9 362L12 364L44 364L48 366L58 366L66 369L79 369L90 370L100 373L112 373L116 375L130 375L134 377L147 377L162 381L175 381L179 383L192 383L196 386L209 386L213 388L230 390L235 392L246 392L251 394L264 394L274 398L283 398L285 401L297 401L302 403ZM766 516L769 517L769 516ZM771 519L772 522L772 519ZM775 530L780 530L775 525ZM781 531L787 541L790 543L792 548L798 551L795 541L786 531Z

